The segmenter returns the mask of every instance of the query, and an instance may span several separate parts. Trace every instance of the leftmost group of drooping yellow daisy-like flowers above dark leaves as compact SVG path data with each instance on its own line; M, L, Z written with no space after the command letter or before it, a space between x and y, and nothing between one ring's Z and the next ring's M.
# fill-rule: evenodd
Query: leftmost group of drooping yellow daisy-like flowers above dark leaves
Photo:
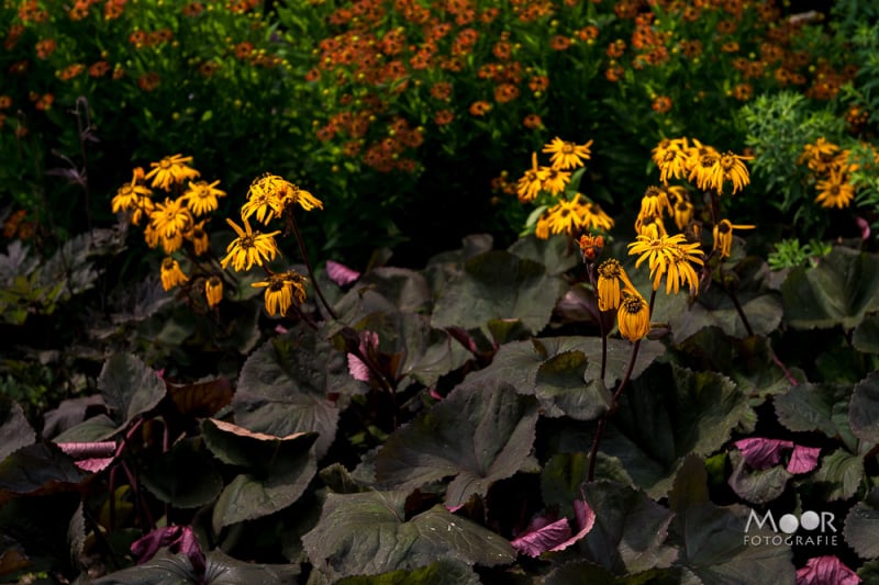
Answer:
M219 181L197 180L200 172L189 164L192 157L174 155L151 164L149 172L134 169L132 180L122 185L111 202L113 212L124 214L132 225L146 222L144 238L151 248L162 248L166 254L160 266L162 285L166 291L189 283L187 292L199 291L209 308L215 308L223 299L223 283L233 281L226 273L260 267L266 279L252 284L264 288L266 311L270 315L286 315L292 306L305 300L305 277L292 268L282 272L269 269L269 262L279 255L275 236L280 229L263 233L251 226L251 218L268 225L274 220L285 220L294 227L292 213L296 206L305 211L323 209L323 202L310 192L277 175L266 173L253 181L247 200L241 207L241 224L226 218L237 235L220 259L210 251L210 237L204 217L219 209L219 198L225 192L218 189ZM154 189L165 191L164 201L154 201ZM180 262L183 255L196 275L190 282Z

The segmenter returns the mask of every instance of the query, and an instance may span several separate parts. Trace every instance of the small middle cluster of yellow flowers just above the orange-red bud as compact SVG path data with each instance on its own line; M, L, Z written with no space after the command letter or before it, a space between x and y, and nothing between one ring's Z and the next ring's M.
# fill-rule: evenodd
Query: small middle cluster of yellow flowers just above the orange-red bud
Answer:
M542 203L534 228L538 238L554 234L577 238L582 233L613 227L613 220L601 206L577 191L583 164L591 158L591 146L592 140L577 144L555 137L543 148L550 155L548 167L538 166L537 153L532 153L532 166L516 181L515 192L522 203Z

